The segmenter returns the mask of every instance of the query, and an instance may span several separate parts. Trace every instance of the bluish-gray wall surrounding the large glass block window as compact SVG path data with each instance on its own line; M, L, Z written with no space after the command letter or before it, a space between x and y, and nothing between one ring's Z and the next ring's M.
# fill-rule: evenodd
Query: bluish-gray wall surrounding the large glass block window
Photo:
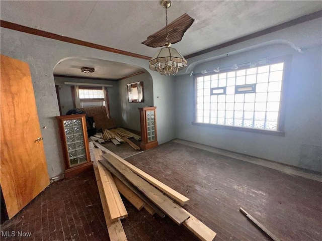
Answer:
M194 72L248 63L261 58L291 55L289 88L286 90L285 137L240 132L213 127L193 126L193 77L178 76L176 86L177 137L196 143L244 153L251 156L321 172L321 19L310 21L260 38L189 59ZM285 39L302 47L299 53L288 44L250 46ZM278 42L278 41L277 41ZM245 51L240 51L245 49ZM238 50L238 54L234 51ZM228 57L204 62L228 54ZM232 53L232 54L230 54ZM189 61L188 60L188 61ZM197 64L196 64L197 63Z

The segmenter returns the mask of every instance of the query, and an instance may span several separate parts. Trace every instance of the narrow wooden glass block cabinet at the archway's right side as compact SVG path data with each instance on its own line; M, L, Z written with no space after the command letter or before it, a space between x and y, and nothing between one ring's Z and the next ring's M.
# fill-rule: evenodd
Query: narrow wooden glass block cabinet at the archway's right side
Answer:
M147 150L158 145L156 139L156 107L143 107L140 110L141 149Z

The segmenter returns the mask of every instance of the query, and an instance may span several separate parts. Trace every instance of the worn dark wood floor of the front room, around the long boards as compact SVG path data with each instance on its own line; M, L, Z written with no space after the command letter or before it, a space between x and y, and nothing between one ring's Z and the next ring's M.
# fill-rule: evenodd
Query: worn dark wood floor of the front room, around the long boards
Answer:
M281 240L322 240L322 183L175 142L127 161L190 198L185 208L217 232L214 240L270 240L243 207ZM198 240L170 218L137 211L122 220L129 241ZM93 172L51 184L1 226L31 232L4 240L108 240Z

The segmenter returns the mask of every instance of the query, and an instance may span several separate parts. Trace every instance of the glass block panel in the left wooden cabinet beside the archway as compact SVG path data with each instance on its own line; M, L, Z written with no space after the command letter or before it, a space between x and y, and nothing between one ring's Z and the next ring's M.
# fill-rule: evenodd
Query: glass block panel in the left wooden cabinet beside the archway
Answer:
M82 119L64 121L70 167L87 162Z

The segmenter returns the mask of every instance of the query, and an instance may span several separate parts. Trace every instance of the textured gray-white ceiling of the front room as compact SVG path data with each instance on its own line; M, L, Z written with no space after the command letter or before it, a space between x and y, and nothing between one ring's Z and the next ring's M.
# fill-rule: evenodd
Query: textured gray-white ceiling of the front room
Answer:
M319 11L321 1L173 1L169 23L195 21L174 44L186 56ZM153 56L141 42L165 27L160 1L1 1L1 20Z

